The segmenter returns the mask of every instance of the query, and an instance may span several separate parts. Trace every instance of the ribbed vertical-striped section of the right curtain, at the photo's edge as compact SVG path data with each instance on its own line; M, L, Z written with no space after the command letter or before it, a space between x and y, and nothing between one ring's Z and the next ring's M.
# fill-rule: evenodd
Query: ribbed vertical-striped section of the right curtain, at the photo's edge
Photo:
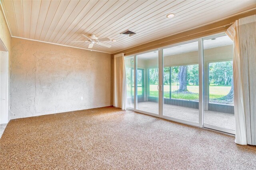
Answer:
M256 145L256 15L238 22L246 140Z

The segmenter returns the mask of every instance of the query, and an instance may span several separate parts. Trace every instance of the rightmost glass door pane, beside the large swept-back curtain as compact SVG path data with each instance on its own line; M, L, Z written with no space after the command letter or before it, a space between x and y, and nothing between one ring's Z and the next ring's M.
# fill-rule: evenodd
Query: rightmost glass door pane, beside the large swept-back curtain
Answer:
M204 40L203 47L204 127L233 133L233 42L228 36L219 36Z

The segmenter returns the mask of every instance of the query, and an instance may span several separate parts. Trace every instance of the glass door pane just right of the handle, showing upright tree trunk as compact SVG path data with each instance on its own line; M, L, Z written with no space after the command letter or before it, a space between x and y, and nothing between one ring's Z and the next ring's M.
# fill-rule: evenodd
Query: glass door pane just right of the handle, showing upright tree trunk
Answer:
M163 115L199 122L198 41L163 49Z

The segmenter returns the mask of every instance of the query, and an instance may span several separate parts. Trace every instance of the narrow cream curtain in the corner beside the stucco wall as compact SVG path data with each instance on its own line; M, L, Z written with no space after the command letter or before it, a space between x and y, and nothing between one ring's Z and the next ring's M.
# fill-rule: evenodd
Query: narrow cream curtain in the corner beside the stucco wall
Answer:
M114 55L114 107L126 110L126 73L124 53Z

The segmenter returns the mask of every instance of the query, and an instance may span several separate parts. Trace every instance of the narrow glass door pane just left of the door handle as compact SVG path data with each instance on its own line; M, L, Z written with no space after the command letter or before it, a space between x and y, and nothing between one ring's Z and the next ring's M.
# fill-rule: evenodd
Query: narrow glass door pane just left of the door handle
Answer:
M159 113L158 51L136 55L137 110Z

